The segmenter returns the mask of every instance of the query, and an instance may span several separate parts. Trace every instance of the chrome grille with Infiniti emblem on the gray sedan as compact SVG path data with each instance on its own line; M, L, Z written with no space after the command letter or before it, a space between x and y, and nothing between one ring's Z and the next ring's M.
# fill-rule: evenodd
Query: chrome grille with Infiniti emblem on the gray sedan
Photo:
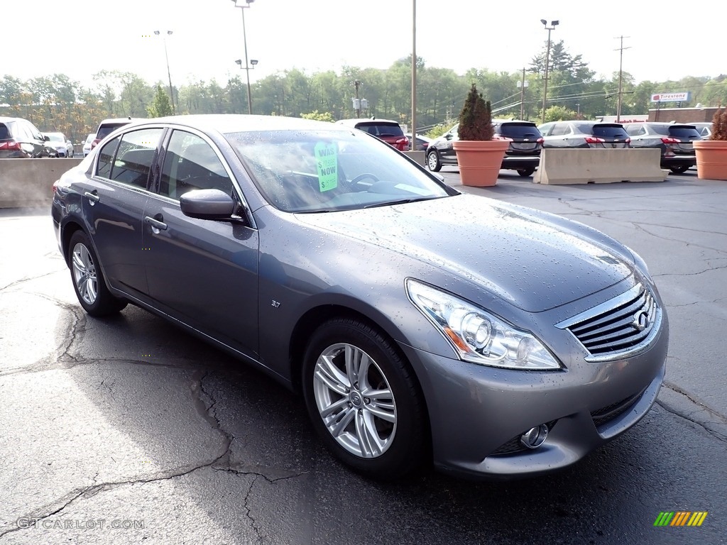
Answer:
M592 356L587 360L605 360L645 350L659 331L661 320L661 310L651 290L637 284L558 327L576 336Z

